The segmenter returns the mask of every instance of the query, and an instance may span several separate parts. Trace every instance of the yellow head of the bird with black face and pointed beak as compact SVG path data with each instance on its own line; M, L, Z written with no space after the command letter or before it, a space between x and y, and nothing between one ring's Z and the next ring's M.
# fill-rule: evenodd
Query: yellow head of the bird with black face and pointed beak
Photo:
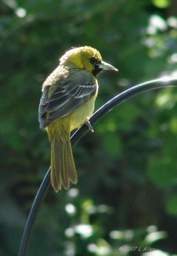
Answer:
M60 65L65 65L66 67L76 66L91 72L94 76L103 70L118 71L117 68L104 62L99 51L90 46L76 47L67 51L60 58Z

